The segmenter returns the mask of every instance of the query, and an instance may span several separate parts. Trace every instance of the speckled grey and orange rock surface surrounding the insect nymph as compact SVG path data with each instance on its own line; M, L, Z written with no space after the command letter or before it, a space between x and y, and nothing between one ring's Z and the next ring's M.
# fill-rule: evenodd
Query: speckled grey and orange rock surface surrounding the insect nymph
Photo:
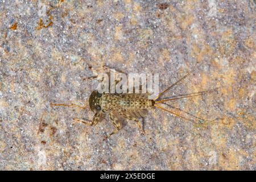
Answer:
M0 0L1 170L255 170L255 1ZM160 90L200 63L167 96L208 129L152 109L146 135L109 118L73 122L101 65L159 73ZM41 123L41 125L40 125ZM39 127L40 126L40 127Z

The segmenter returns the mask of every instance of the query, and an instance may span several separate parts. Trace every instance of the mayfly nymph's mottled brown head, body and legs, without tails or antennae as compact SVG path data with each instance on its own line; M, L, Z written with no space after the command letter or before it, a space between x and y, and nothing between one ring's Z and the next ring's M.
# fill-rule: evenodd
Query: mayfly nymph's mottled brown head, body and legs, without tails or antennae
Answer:
M122 117L133 120L138 123L139 127L142 129L142 125L138 118L143 118L145 110L149 107L154 106L154 100L148 100L147 94L111 94L111 93L98 93L94 90L89 97L89 106L94 113L93 121L91 125L95 125L100 119L102 114L109 114L112 120L115 130L112 134L116 133L121 129L122 123L118 119L118 115ZM81 119L76 119L81 121ZM84 121L82 121L84 122ZM144 130L143 130L144 133ZM112 135L110 134L110 135Z

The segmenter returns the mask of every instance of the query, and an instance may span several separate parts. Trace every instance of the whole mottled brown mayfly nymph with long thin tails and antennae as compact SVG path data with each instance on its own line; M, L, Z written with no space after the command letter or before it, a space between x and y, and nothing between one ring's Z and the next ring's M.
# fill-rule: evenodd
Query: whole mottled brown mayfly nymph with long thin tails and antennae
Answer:
M164 93L166 93L168 90L173 88L175 85L179 84L186 77L191 75L194 69L188 72L185 76L181 77L171 86L168 86L168 88L163 90L163 92L159 93L158 96L152 100L148 99L148 94L99 93L97 90L94 90L89 97L89 107L90 107L90 110L94 112L94 117L92 121L89 121L88 119L82 119L82 118L73 118L73 120L85 123L86 125L96 126L102 117L105 117L107 114L109 114L109 118L113 122L113 125L115 126L115 130L112 133L110 133L106 138L110 137L111 135L117 133L119 130L122 129L122 122L119 120L118 118L119 116L122 116L123 118L129 119L131 121L137 122L139 129L141 129L142 133L144 134L144 130L143 130L142 122L140 122L140 118L144 118L147 109L152 109L155 107L162 109L164 111L167 111L168 113L174 114L177 117L180 117L187 121L190 121L196 124L199 124L199 123L202 124L204 122L204 120L202 119L199 119L199 121L196 122L193 119L185 118L180 114L176 114L173 111L166 109L161 104L164 104L167 101L174 101L182 98L201 96L203 94L214 92L218 88L203 91L203 92L198 92L198 93L185 94L182 96L172 97L166 100L159 100L159 98ZM115 82L115 84L117 84L117 82ZM74 104L67 105L67 104L52 103L51 105L52 106L71 106L71 107L75 106L75 107L80 107L81 109L86 109L86 107L84 106L79 106Z

